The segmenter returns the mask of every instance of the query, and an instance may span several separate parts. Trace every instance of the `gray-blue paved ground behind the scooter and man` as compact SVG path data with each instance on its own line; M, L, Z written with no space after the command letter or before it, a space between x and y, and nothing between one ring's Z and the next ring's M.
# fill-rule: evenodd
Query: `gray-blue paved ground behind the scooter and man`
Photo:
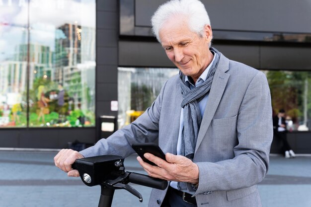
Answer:
M0 151L0 207L97 207L100 188L69 178L53 164L56 152ZM127 171L144 173L136 156ZM132 185L144 198L115 192L112 207L147 207L150 188ZM311 207L311 157L271 156L270 170L258 185L263 207Z

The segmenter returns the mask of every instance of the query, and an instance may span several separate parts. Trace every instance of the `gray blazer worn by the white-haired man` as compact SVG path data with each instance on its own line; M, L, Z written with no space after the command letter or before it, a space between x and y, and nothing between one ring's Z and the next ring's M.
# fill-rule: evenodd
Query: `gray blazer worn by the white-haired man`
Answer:
M134 153L132 143L156 138L164 153L176 154L182 101L178 78L167 80L156 101L135 122L81 154L126 157ZM256 184L267 173L272 137L266 76L221 54L193 160L199 166L194 194L198 206L261 207ZM165 193L153 189L149 207L159 207Z

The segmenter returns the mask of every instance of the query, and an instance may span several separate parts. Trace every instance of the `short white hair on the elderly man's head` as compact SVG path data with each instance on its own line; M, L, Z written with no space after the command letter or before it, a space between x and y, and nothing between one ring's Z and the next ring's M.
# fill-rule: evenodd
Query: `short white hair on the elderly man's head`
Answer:
M160 41L159 30L172 16L185 16L191 31L198 35L204 35L204 26L211 25L210 18L199 0L170 0L160 5L151 18L153 33L157 41Z

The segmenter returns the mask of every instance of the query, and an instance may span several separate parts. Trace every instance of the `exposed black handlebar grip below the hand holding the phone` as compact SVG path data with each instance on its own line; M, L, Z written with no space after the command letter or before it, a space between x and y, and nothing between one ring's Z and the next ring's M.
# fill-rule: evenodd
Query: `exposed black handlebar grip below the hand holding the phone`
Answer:
M131 183L135 183L138 185L147 186L151 188L156 188L160 190L164 190L167 187L166 180L153 178L148 175L143 175L143 174L134 173L134 172L132 172L129 175L129 181Z

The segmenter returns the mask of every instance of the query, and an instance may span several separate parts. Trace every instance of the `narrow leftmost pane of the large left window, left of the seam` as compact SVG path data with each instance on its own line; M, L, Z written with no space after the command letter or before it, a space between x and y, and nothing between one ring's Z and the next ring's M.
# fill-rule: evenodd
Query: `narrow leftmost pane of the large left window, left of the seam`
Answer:
M28 30L22 10L16 0L0 3L0 127L27 125L27 47L21 46Z

